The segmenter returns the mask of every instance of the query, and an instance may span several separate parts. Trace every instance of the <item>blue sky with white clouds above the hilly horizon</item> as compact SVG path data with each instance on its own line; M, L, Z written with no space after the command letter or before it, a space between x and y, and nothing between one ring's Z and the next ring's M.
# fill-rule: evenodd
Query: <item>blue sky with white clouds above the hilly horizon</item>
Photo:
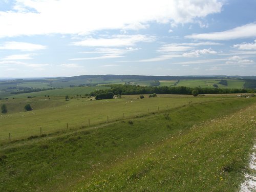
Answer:
M256 75L255 0L0 0L0 78Z

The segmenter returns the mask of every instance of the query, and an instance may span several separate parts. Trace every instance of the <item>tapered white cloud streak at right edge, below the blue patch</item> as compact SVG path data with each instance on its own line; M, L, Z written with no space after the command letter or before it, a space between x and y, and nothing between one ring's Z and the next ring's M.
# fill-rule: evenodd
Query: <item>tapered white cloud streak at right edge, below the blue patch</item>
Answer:
M230 40L237 38L256 37L256 24L251 23L244 26L236 27L227 31L215 33L201 33L185 36L193 39L207 39L207 40Z

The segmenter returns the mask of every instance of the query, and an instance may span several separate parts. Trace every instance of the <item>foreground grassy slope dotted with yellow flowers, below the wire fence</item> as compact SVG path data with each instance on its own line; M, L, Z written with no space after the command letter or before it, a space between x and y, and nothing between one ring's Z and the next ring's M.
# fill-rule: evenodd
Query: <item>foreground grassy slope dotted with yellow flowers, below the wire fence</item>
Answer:
M135 118L133 124L125 120L25 145L5 144L0 190L233 191L255 136L255 106L208 119L253 102L195 104Z

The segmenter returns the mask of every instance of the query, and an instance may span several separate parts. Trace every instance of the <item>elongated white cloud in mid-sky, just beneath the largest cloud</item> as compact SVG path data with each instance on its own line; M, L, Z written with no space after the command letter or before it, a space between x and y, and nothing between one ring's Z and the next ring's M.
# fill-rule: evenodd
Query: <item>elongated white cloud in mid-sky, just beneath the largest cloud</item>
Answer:
M82 41L73 42L75 46L87 47L129 47L138 42L155 41L154 36L146 35L113 35L112 38L87 38Z

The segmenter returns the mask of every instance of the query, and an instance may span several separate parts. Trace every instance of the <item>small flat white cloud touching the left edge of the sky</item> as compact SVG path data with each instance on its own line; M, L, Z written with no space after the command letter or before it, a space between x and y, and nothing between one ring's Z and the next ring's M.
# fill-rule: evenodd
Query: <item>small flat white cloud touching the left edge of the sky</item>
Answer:
M4 42L4 44L0 45L0 49L20 50L20 51L37 51L37 50L46 49L46 46L42 46L42 45L38 45L38 44L30 44L29 42L7 41L7 42Z

